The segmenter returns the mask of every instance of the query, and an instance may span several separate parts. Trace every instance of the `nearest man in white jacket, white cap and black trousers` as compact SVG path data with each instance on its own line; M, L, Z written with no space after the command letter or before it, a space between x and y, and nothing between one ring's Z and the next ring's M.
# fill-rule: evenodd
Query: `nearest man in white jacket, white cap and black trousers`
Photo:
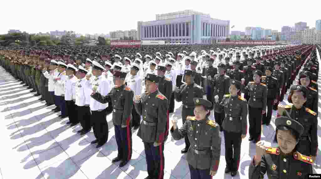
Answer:
M91 90L92 93L96 92L106 96L110 91L110 84L108 81L101 75L105 68L100 65L97 61L92 62L92 74L95 76L95 79L92 81ZM88 83L88 81L87 81ZM103 146L108 139L108 123L106 120L106 104L102 104L95 99L90 99L90 110L91 110L91 126L96 137L96 140L91 141L91 143L97 143L96 148Z

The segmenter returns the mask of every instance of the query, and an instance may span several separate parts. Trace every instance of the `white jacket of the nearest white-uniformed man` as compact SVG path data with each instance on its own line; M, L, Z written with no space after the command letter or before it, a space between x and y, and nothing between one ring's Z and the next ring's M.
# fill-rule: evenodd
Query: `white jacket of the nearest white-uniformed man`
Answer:
M99 77L95 77L91 82L91 91L94 88L96 88L96 92L100 93L102 96L106 96L109 93L111 86L107 79L100 75ZM108 107L108 103L102 104L93 98L90 98L89 107L92 111L104 110Z

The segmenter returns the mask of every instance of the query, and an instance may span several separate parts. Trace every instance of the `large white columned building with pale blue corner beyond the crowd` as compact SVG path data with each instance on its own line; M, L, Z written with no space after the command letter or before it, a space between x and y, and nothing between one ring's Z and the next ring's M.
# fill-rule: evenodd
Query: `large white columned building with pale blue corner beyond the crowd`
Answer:
M230 20L213 19L209 14L185 10L156 14L154 21L137 22L138 40L165 40L166 43L213 44L230 34Z

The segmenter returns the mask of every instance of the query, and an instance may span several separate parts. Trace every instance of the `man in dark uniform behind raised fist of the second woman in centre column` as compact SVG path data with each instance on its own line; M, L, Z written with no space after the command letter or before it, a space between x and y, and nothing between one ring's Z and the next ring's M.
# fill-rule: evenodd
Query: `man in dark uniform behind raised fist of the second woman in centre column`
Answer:
M230 93L230 77L225 75L226 66L223 63L220 63L217 67L219 74L215 75L212 80L214 86L213 96L215 96L214 118L215 122L220 125L220 131L223 131L222 122L225 118L225 112L220 106L220 102L222 101L224 94Z

